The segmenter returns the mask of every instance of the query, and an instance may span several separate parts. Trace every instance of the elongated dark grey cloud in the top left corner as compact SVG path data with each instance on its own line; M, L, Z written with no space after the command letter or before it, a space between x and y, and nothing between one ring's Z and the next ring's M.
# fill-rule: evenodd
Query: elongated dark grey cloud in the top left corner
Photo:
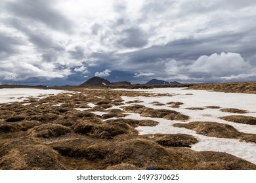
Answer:
M16 0L6 3L5 8L17 17L41 22L52 29L70 33L72 22L64 14L54 10L53 3L54 1L49 0Z

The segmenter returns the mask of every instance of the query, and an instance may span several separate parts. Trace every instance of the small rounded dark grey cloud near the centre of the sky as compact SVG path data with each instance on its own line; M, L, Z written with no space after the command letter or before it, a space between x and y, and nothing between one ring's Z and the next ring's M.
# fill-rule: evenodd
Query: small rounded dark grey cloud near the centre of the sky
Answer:
M139 27L131 27L121 31L121 37L117 39L117 45L125 48L140 48L148 44L148 35Z

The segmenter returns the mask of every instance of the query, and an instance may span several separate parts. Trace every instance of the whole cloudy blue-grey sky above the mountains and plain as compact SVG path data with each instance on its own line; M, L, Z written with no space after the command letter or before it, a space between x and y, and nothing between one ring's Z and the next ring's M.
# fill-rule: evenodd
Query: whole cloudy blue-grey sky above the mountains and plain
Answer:
M1 0L0 84L256 80L254 0Z

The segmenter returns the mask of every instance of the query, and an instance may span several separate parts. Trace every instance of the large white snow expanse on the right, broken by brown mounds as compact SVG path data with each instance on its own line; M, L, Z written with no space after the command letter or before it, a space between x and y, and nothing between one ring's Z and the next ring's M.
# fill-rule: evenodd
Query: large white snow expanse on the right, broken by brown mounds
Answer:
M140 92L150 92L150 93L171 93L172 97L122 97L124 102L133 101L139 99L142 103L139 105L144 105L145 107L151 108L164 108L169 110L176 110L182 114L190 116L188 122L219 122L223 124L229 124L234 126L238 131L244 133L256 134L256 125L246 125L246 124L236 124L234 122L226 122L219 119L220 116L228 115L241 115L234 114L230 112L221 112L221 108L238 108L243 110L248 110L249 112L246 116L256 117L256 95L255 94L245 94L245 93L222 93L222 92L208 92L205 90L184 90L185 88L154 88L146 90L136 90ZM116 89L123 90L123 89ZM135 90L131 90L135 91ZM180 108L171 108L170 105L156 106L153 105L153 101L158 101L160 103L166 104L168 102L182 102ZM131 104L133 105L133 104ZM221 108L205 108L207 106L219 106ZM188 110L188 107L201 107L205 108L203 110ZM236 139L224 139L207 137L203 135L196 134L195 131L185 128L173 127L173 124L184 123L180 121L165 120L163 118L144 118L139 114L130 114L125 118L133 118L138 120L148 119L155 120L159 124L155 127L137 127L140 135L143 134L177 134L184 133L188 135L193 135L198 139L198 143L192 145L192 150L196 151L215 151L215 152L226 152L232 154L239 158L246 159L251 163L256 164L256 144L251 142L242 142Z

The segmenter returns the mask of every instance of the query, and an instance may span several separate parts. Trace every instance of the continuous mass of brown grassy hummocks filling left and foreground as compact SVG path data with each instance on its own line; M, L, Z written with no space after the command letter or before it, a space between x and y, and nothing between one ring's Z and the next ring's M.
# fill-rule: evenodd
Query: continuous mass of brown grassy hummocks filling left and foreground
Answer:
M22 103L0 105L3 119L0 121L0 169L256 169L253 163L230 154L190 150L187 147L197 142L190 135L154 135L154 138L138 135L135 127L155 126L158 122L121 117L125 116L124 112L134 112L154 118L188 120L189 117L180 112L143 105L108 109L124 105L122 96L171 96L169 94L102 88L69 90L81 93L30 98L23 102L31 103L26 106ZM53 106L58 103L62 105ZM87 108L88 103L96 107L82 112L73 109ZM108 114L98 116L90 111ZM102 120L111 116L117 119ZM255 142L253 135L242 134L239 138Z

